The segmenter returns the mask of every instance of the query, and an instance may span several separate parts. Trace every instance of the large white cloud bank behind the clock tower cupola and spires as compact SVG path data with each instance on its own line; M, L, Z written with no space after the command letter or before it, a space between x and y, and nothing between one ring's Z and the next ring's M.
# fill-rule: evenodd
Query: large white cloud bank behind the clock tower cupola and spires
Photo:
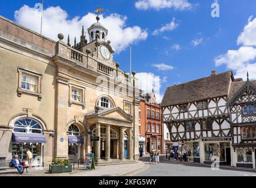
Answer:
M69 34L71 44L73 45L75 36L77 37L77 42L80 39L82 26L84 26L85 32L87 32L87 28L96 22L96 16L88 12L82 18L75 16L69 19L67 12L61 7L51 6L44 11L42 35L58 41L58 33L63 33L65 36L64 41L67 42ZM127 16L111 14L105 17L100 15L99 17L101 18L99 22L108 29L108 39L117 52L121 52L129 44L144 41L148 37L147 30L143 30L139 26L127 27L125 25ZM40 31L41 16L36 8L31 8L27 5L22 6L18 11L15 11L15 21L33 31Z

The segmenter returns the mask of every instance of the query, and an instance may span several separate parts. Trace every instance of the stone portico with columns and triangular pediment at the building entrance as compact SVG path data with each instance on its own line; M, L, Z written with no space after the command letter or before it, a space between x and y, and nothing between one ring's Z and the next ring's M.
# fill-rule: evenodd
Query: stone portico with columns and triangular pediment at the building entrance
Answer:
M133 160L133 119L121 108L99 109L85 115L86 125L99 141L87 142L97 162L112 159Z

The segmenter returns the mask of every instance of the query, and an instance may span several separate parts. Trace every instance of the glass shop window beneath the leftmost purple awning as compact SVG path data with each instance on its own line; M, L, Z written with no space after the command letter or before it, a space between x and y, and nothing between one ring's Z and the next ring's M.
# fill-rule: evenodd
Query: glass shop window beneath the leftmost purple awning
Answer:
M41 143L12 143L12 156L18 155L19 159L24 161L26 164L28 164L28 160L26 160L26 151L30 150L33 159L32 159L32 165L41 165L42 164L42 145Z

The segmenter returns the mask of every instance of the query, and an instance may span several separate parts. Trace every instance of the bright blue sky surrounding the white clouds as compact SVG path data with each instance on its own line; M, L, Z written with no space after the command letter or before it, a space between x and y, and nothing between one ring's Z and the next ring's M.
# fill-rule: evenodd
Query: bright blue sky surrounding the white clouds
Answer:
M45 0L44 9L50 6L60 6L62 10L67 12L67 19L73 19L75 16L82 18L88 12L93 12L96 6L99 5L105 9L104 17L111 14L127 16L127 19L124 21L125 24L121 26L121 29L134 26L138 26L141 29L141 33L137 33L134 39L128 41L132 43L132 69L138 73L152 73L160 76L160 95L164 93L167 86L210 76L212 69L216 69L217 73L232 69L235 75L243 75L246 70L237 73L237 66L232 66L232 62L230 63L227 60L227 57L230 58L227 52L229 50L238 52L241 46L252 46L252 58L245 63L256 68L252 64L255 63L255 43L252 43L252 45L244 44L245 42L241 42L240 45L237 43L238 36L240 36L244 31L244 27L249 23L248 19L250 16L251 22L255 19L255 0L219 0L220 18L212 18L211 16L211 4L214 0L174 0L177 2L187 2L189 8L184 9L175 6L169 8L165 7L164 4L159 4L158 9L154 7L139 9L135 6L135 3L138 1ZM147 1L144 0L144 2ZM168 2L172 0L157 1ZM25 23L24 25L29 27L29 21L24 22L15 19L14 12L24 5L33 8L37 2L41 1L1 1L0 14L13 21L18 21L19 24ZM176 24L172 29L162 29L163 32L159 30L163 26L171 24L172 21L174 21L173 24ZM92 19L89 24L94 22L95 19ZM153 35L156 29L158 29L158 35ZM56 31L56 33L59 32L61 31ZM144 35L142 35L143 32ZM145 33L147 33L147 36L145 36ZM122 35L122 37L126 37L126 35ZM197 41L198 45L193 45L193 40ZM216 66L214 59L217 57L221 59L220 55L222 55L222 60L223 56L226 55L224 58L226 62L220 60L221 63L219 63L219 66ZM121 69L129 72L128 44L120 49L114 58L115 61L121 64ZM232 61L232 57L230 59ZM159 64L167 66L157 66ZM160 67L162 69L159 69ZM252 72L251 75L252 78L256 78L256 71Z

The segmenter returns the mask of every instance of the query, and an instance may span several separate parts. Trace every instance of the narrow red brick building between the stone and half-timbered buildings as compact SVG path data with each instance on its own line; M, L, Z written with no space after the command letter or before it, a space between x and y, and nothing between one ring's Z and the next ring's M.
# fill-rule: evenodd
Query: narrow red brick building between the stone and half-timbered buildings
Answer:
M140 99L139 147L143 148L144 153L149 153L150 150L162 153L161 108L156 102L154 90L142 93Z

